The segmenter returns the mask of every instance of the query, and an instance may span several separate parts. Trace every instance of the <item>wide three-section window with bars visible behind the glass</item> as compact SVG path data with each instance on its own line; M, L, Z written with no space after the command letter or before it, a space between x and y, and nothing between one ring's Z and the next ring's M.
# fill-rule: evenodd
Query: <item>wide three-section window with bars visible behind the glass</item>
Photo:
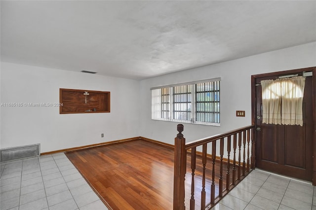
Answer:
M152 119L220 123L220 78L152 88Z

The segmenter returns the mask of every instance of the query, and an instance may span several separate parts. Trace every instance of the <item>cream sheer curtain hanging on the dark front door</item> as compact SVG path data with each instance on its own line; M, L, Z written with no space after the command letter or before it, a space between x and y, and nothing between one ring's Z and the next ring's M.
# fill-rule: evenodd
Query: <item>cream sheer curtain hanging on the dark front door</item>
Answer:
M262 80L263 123L303 126L305 77Z

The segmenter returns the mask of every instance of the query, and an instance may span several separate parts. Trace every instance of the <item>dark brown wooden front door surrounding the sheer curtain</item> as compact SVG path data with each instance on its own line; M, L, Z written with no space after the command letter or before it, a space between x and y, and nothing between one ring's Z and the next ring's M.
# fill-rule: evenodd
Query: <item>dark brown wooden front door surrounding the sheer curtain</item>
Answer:
M287 73L288 74L288 73ZM284 74L283 74L284 75ZM276 79L281 75L255 78ZM299 179L313 178L313 76L306 77L303 126L262 123L262 88L255 87L256 167Z

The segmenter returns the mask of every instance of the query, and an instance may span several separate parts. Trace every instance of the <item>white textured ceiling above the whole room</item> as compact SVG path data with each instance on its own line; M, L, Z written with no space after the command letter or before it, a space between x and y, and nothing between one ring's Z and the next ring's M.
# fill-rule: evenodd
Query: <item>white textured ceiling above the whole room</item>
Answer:
M1 61L144 79L316 41L316 1L1 0Z

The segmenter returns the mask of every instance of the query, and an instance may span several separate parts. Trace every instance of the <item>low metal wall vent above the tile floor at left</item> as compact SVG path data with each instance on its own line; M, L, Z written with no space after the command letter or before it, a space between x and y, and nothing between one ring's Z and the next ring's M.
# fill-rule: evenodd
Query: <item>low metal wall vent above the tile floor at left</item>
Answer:
M0 162L36 156L40 156L39 143L27 146L5 148L0 150Z

